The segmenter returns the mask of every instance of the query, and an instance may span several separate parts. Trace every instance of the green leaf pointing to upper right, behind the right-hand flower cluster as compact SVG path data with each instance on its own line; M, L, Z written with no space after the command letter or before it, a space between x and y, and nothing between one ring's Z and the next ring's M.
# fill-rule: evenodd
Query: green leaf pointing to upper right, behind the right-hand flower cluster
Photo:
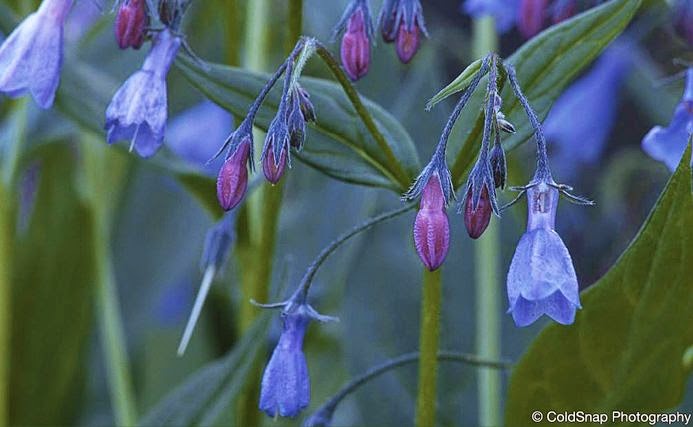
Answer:
M640 6L639 0L612 0L574 18L555 25L525 43L508 58L517 78L540 120L563 89L628 25ZM483 102L486 84L475 91L455 126L457 136L450 138L448 153L455 186L463 184L466 172L476 160L481 142ZM503 141L511 150L532 135L524 110L509 85L502 91L503 112L517 132Z

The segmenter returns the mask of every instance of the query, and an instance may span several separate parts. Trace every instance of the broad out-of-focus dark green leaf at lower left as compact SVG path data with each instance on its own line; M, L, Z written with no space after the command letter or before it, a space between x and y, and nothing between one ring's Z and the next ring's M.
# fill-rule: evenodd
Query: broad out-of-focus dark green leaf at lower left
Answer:
M68 144L41 148L33 214L15 240L11 425L70 425L79 409L95 262L76 156Z

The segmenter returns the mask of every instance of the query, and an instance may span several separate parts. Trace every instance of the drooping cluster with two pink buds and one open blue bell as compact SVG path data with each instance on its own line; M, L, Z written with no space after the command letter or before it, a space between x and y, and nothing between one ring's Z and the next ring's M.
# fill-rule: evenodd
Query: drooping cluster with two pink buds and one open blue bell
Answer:
M467 233L474 239L479 238L488 227L491 213L500 216L496 189L505 187L507 175L501 135L515 132L515 127L501 111L499 63L516 98L525 109L537 143L534 177L526 186L513 188L520 191L520 196L527 195L528 220L527 231L515 250L508 272L509 312L518 326L527 326L542 314L559 323L570 324L575 318L575 311L580 308L578 282L570 254L554 231L556 206L560 194L578 204L592 202L569 193L570 187L554 181L539 120L522 93L515 70L511 65L500 62L495 54L490 54L482 61L479 71L464 89L445 125L431 161L403 196L405 200L421 198L420 210L414 222L414 243L426 268L435 270L442 265L450 240L445 206L454 197L445 162L447 140L462 109L486 74L488 83L479 156L462 189L463 198L458 212L463 214ZM517 202L520 196L507 206Z

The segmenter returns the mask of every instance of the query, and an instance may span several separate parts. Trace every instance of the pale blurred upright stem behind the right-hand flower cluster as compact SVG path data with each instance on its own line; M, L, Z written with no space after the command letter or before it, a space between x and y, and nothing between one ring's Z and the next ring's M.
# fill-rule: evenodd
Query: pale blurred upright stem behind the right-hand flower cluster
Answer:
M482 57L498 49L493 17L487 16L474 21L474 56ZM491 221L484 235L475 246L476 265L476 352L479 357L500 357L500 233L497 221ZM497 370L478 370L478 411L480 426L502 424L501 376Z

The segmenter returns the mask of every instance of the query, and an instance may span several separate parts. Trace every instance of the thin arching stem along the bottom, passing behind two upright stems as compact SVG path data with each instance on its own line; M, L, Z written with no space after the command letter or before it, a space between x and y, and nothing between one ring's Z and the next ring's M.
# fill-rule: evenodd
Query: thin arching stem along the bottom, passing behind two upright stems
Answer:
M458 353L454 351L439 351L438 361L463 363L472 366L484 367L487 369L509 369L511 364L505 361L488 360L478 357L473 354ZM371 381L372 379L401 366L406 366L419 360L419 353L406 353L400 356L387 360L379 365L373 366L363 374L354 378L345 384L334 396L320 406L314 414L332 417L332 414L337 409L339 403L344 400L349 394L353 393L357 388ZM312 418L312 417L311 417Z

